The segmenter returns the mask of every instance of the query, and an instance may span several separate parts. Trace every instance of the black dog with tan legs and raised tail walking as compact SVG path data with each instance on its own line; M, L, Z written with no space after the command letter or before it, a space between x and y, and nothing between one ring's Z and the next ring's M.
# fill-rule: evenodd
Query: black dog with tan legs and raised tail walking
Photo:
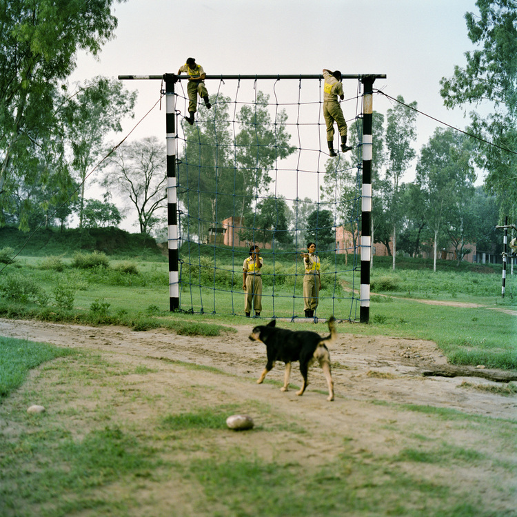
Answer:
M264 343L267 349L267 364L262 372L257 384L264 381L267 372L274 367L275 361L283 361L285 363L285 374L283 387L281 390L287 392L289 388L289 378L291 375L291 363L300 361L300 372L303 376L303 385L296 395L303 395L307 387L307 372L310 365L317 360L323 369L327 385L329 387L329 396L327 401L334 400L334 383L330 374L330 354L325 343L333 343L336 340L336 324L334 316L329 321L330 335L322 338L316 332L307 330L285 330L275 327L276 320L270 321L267 325L259 325L252 330L250 339L252 341L260 341Z

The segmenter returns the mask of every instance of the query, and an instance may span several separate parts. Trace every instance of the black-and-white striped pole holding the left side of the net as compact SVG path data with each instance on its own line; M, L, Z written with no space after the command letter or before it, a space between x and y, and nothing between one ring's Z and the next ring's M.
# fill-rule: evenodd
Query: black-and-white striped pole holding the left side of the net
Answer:
M178 215L176 189L176 95L174 74L165 74L165 124L167 131L167 221L169 249L169 305L170 310L179 309L178 272Z

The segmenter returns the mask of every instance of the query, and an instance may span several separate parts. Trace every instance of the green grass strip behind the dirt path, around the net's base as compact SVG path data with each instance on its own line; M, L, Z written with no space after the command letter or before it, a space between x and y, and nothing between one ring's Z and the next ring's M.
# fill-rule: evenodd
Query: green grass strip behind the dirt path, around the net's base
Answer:
M128 260L124 254L106 255L102 265L81 269L72 267L74 252L69 250L68 256L20 256L9 265L0 276L0 316L126 325L139 331L165 327L183 335L214 336L231 332L232 325L248 323L243 318L241 287L244 252L218 249L221 257L218 253L216 278L221 277L221 283L216 283L214 290L213 263L208 256L210 250L213 256L213 248L200 248L204 253L201 256L204 273L199 274L198 281L207 285L181 285L181 313L169 310L166 257L144 260L133 256ZM194 254L192 250L191 253ZM266 255L266 262L272 259ZM293 256L283 257L287 258L278 261L276 272L296 272ZM88 253L82 252L81 258L92 263L92 259L99 260L99 254L92 254L89 260ZM342 261L343 257L338 259ZM449 261L439 261L438 272L433 272L429 267L432 262L401 259L398 261L401 269L393 272L391 262L386 259L389 258L376 257L372 270L372 290L376 287L378 290L371 296L370 325L341 325L340 332L428 339L436 342L451 363L517 369L516 318L498 310L517 310L517 297L512 294L513 277L507 278L509 294L503 299L497 265L465 263L456 267ZM281 281L273 285L272 276L268 276L272 272L270 267L264 276L261 317L290 320L293 314L303 316L301 278L293 294L294 277L278 274ZM352 272L343 272L336 288L328 282L330 276L325 278L316 315L326 318L334 314L338 319L357 320L358 301L352 302L349 296L350 289L358 287L358 279L354 279ZM15 298L20 294L24 298ZM475 303L480 307L427 305L420 299ZM327 330L325 325L296 323L296 327Z

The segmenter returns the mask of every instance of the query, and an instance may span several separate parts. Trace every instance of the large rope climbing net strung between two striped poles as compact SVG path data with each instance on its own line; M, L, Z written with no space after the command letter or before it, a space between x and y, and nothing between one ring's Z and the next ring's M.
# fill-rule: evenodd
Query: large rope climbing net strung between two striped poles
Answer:
M192 125L184 83L175 89L180 310L244 316L243 262L258 245L261 318L303 317L301 252L314 242L321 261L314 316L358 321L360 81L341 102L354 149L341 153L334 124L335 158L323 79L207 81L212 107L199 99Z

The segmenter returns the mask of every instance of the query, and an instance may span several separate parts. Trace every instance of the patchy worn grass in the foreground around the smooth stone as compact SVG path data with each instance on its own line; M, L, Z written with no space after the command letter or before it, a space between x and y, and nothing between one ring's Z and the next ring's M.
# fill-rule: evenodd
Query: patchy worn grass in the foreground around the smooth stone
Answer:
M232 398L214 368L212 384L187 383L183 393L167 384L161 395L143 389L149 375L192 378L192 367L155 359L136 379L95 354L48 363L0 406L10 420L0 429L0 514L164 515L172 505L179 516L516 516L515 487L507 491L517 474L515 421L388 403L350 436L348 424L321 429L310 418ZM32 389L54 409L27 415ZM206 389L230 400L206 405ZM245 409L259 425L238 435L226 429L225 416ZM370 446L365 432L376 437ZM389 447L378 454L375 443ZM314 461L322 446L332 454L314 464L289 454Z

